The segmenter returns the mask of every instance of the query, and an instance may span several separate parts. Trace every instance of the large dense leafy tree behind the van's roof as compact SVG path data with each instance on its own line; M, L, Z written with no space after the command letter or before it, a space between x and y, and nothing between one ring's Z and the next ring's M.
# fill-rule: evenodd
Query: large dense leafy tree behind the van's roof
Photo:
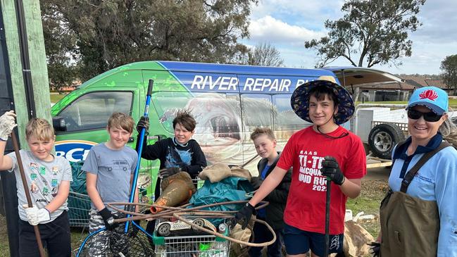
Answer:
M234 63L257 0L43 0L76 44L82 79L146 60ZM52 40L52 39L51 39ZM58 40L58 39L56 39Z

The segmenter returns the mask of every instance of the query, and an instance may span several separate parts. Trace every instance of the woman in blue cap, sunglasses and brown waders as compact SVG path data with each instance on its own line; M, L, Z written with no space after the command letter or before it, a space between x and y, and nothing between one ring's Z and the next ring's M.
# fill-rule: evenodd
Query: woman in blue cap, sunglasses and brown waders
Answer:
M392 153L390 189L380 209L380 254L457 256L457 151L443 142L457 132L448 96L422 87L406 110L411 137Z

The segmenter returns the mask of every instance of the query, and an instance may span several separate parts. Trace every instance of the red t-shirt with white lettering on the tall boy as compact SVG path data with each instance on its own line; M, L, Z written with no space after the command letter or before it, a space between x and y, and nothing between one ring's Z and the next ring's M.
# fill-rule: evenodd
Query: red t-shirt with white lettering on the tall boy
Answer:
M348 179L366 174L365 150L361 139L339 126L329 133L330 139L315 132L313 126L296 132L284 146L277 166L289 170L293 166L292 184L287 196L284 222L300 230L325 233L326 180L320 175L325 156L337 159L339 168ZM332 183L330 194L330 234L344 232L344 213L347 196Z

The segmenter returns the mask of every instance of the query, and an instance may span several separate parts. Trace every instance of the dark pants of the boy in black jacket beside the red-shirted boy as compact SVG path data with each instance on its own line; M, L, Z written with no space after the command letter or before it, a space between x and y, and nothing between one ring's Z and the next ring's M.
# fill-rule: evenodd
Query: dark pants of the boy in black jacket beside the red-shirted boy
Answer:
M258 218L263 220L263 218ZM273 239L273 234L271 234L270 230L268 230L265 225L260 224L258 222L254 223L253 227L253 233L254 233L254 243L265 243L269 242L271 239ZM268 257L282 257L282 229L275 230L276 234L276 241L267 246L267 256ZM251 247L249 249L249 256L250 257L261 257L262 256L262 249L263 247Z

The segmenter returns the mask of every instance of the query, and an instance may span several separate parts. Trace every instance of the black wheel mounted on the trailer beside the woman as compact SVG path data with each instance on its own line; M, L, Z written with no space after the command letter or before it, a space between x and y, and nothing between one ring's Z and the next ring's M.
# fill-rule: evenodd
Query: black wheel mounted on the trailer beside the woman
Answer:
M383 123L376 125L368 135L368 145L376 157L392 158L392 149L405 139L401 128L397 125Z

